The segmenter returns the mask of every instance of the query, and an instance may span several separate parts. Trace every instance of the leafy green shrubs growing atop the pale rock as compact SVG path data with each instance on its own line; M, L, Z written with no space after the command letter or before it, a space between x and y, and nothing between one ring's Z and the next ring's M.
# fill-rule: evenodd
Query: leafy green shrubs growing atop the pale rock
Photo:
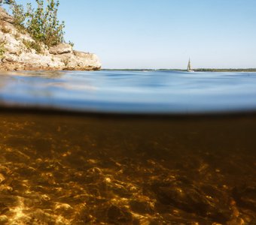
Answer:
M34 40L47 46L55 46L64 42L64 22L57 19L59 0L35 0L37 7L31 3L18 5L15 0L0 0L1 3L10 5L14 24L20 31L28 31Z

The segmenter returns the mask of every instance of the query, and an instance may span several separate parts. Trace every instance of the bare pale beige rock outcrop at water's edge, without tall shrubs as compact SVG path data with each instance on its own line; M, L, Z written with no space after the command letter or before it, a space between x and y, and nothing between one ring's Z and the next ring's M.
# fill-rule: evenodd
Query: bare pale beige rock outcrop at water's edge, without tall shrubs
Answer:
M14 19L0 7L0 71L76 70L101 68L97 55L78 52L67 43L48 48L26 31L14 26Z

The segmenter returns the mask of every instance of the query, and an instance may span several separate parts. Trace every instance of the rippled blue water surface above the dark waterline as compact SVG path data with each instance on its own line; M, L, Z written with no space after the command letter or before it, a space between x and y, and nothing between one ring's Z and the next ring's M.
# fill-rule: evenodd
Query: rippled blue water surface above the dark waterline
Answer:
M256 110L256 73L174 71L3 74L0 104L115 113Z

